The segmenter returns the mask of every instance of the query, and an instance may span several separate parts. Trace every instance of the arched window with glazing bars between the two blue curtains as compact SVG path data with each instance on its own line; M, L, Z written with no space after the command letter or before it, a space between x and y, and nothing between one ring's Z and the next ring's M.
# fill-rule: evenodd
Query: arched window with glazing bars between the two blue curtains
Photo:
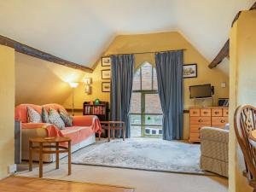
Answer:
M162 110L155 68L148 62L137 69L131 95L131 137L161 137Z

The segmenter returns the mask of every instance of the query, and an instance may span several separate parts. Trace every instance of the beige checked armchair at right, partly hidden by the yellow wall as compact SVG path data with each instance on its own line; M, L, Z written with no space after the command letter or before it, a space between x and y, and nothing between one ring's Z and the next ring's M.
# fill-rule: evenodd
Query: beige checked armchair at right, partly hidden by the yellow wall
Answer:
M203 127L201 135L201 169L228 177L229 131Z

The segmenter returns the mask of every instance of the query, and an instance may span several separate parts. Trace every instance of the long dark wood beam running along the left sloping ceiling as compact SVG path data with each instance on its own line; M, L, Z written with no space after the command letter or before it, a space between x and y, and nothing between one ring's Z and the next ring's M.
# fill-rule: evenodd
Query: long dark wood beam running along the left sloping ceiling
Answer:
M50 54L48 54L44 51L41 51L39 49L32 48L26 44L21 44L20 42L17 42L13 39L3 37L2 35L0 35L0 44L14 48L15 51L20 52L22 54L31 55L33 57L37 57L37 58L45 60L45 61L54 62L61 66L71 67L71 68L78 69L78 70L81 70L81 71L87 72L87 73L92 73L92 71L93 71L89 67L84 67L77 63L63 60L60 57L57 57L55 55L50 55Z

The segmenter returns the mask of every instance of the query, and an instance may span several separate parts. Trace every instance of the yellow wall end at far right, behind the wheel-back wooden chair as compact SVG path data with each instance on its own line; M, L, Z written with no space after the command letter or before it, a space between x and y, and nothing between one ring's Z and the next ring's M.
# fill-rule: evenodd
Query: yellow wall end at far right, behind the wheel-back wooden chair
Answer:
M242 176L244 161L233 118L241 104L256 106L256 11L243 11L230 32L230 192L251 192Z

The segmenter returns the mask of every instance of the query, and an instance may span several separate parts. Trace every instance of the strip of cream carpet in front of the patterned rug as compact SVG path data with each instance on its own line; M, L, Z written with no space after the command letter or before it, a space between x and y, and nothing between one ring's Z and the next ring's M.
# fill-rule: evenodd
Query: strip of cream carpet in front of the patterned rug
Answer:
M60 163L59 170L55 170L55 163L45 164L44 177L135 187L136 192L228 192L228 179L224 177L80 165L72 165L72 175L67 176L67 159ZM34 167L32 172L28 172L27 162L24 162L18 166L20 172L17 175L38 177L38 165Z

